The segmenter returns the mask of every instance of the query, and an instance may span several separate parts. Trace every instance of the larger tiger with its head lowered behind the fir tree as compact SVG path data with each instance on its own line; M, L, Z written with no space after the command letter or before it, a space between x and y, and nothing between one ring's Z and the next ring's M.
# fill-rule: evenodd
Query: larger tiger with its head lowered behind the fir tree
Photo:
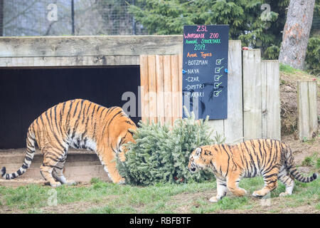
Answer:
M134 122L117 106L105 108L90 100L74 99L53 106L42 113L28 128L26 157L18 171L1 176L14 179L30 167L36 145L43 154L40 172L52 187L75 185L63 175L69 147L94 151L114 183L124 183L117 170L116 158L125 160L125 143L134 142Z

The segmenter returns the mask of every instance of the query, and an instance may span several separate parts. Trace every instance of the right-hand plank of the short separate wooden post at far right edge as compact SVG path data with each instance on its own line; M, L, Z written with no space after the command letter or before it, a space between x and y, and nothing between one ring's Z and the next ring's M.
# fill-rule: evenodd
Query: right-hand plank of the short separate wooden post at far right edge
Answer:
M308 90L309 90L309 109L310 109L310 133L316 133L318 131L318 113L317 113L317 103L316 103L316 81L308 82ZM313 135L311 135L313 136Z

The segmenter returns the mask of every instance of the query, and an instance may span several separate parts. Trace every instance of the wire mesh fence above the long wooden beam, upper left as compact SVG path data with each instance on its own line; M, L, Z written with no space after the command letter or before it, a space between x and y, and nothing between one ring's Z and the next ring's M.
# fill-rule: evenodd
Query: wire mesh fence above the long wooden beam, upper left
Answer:
M0 36L146 34L135 0L0 0Z

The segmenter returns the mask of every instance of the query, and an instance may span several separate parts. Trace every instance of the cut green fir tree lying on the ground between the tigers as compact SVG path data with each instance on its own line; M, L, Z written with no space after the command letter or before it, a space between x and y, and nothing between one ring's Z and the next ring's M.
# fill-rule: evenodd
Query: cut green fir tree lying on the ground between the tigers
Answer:
M186 111L186 110L185 110ZM202 181L213 177L211 172L191 175L188 160L191 152L201 145L222 142L219 136L210 138L212 131L206 120L195 116L178 119L169 130L169 125L139 123L134 134L137 143L128 143L126 161L117 160L117 168L126 182L133 185L154 185L156 182Z

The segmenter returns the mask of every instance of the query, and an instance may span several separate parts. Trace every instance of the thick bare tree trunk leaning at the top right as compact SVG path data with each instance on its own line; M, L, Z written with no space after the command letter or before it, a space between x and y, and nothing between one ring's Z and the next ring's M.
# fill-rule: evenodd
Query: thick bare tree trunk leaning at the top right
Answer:
M280 63L303 70L314 4L315 0L290 0L279 53Z

